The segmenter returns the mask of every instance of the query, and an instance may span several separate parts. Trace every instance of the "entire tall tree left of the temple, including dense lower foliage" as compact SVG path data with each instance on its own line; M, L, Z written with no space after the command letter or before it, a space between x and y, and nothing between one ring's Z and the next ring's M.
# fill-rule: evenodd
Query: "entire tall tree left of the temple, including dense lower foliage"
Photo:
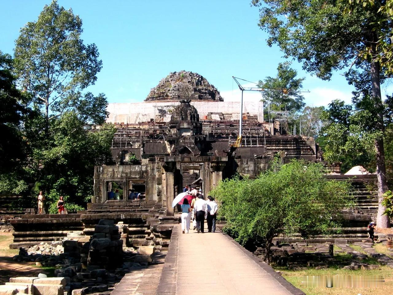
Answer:
M69 212L85 205L94 165L110 160L114 127L95 129L108 116L107 99L83 92L95 83L102 62L95 44L83 43L82 32L81 18L52 1L15 42L18 83L33 97L32 116L24 123L32 195L44 190L52 213L60 195Z

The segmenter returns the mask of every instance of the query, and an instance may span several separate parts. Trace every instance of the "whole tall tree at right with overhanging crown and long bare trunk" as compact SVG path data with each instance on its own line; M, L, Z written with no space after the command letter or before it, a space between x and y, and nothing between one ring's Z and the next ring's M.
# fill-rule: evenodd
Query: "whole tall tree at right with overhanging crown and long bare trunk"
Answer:
M275 1L253 0L261 6L259 26L269 33L268 45L277 44L286 57L296 57L303 68L321 79L330 79L334 70L352 66L368 68L373 108L376 110L374 139L378 180L378 227L389 227L389 218L382 205L387 191L384 153L383 107L380 74L383 72L377 46L382 36L391 31L391 22L379 10L381 1L373 6L349 1ZM348 11L348 13L343 13ZM377 133L375 133L377 134Z

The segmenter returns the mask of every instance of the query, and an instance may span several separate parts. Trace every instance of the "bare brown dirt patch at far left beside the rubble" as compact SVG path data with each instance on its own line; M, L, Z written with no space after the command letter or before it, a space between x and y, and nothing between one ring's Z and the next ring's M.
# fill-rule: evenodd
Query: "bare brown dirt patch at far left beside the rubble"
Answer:
M13 236L11 232L0 233L0 284L4 284L12 277L34 277L39 273L48 272L35 266L34 262L15 262L13 256L17 255L19 250L9 249Z

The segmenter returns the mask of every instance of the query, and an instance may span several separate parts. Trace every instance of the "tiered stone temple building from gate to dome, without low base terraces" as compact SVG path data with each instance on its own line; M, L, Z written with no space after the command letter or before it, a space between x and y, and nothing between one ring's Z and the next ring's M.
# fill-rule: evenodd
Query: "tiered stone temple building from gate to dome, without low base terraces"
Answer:
M173 215L172 200L186 184L208 195L235 173L256 177L277 153L284 161L322 161L313 138L281 135L279 125L263 122L261 101L244 103L243 109L242 146L235 148L240 102L224 102L199 74L173 72L144 102L109 104L108 122L117 127L112 143L116 165L95 167L93 202L106 202L116 183L121 199L134 189Z

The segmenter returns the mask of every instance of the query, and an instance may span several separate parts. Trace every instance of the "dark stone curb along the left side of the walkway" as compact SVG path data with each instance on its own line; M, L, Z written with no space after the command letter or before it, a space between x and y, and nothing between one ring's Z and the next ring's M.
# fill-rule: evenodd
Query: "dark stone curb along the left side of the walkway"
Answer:
M168 253L162 268L160 282L158 283L157 295L176 295L177 279L177 256L179 249L179 226L174 225L171 242L169 242Z

